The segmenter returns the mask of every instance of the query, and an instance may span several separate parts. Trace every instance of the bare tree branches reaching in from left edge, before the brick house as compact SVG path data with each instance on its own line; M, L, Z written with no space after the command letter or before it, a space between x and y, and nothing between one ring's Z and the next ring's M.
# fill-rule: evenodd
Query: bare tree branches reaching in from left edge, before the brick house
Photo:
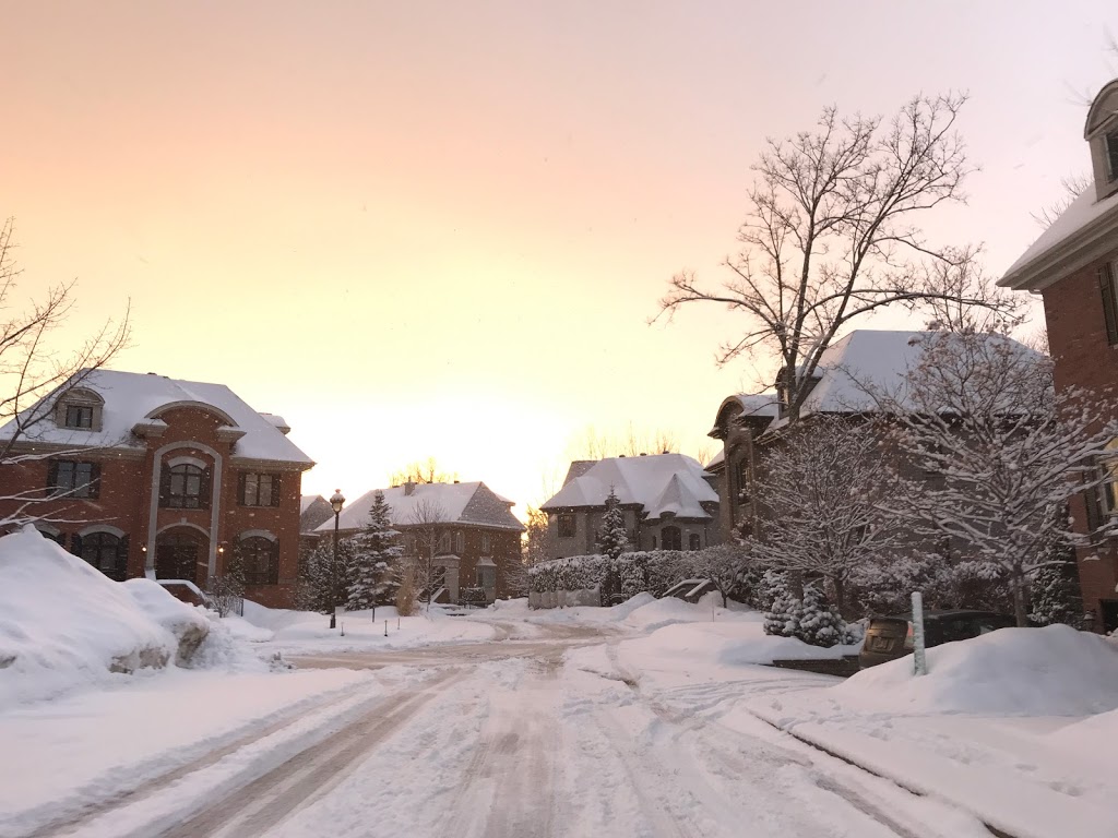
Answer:
M21 270L13 259L12 219L0 225L0 311L12 307L17 280ZM64 398L80 387L91 374L105 366L129 340L129 311L115 323L107 321L68 354L59 354L48 345L49 337L63 328L75 305L75 283L48 287L28 307L0 321L0 425L9 431L0 439L0 468L57 456L27 450L22 445L34 436L35 427L47 419L57 398ZM55 399L47 399L49 393ZM44 499L41 491L0 495L16 501L17 512L0 523L12 524L39 520L35 506Z

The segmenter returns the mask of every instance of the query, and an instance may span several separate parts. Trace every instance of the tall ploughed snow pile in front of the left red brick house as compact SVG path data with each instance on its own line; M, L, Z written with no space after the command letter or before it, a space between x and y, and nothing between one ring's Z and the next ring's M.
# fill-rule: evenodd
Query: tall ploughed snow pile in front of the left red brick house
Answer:
M32 527L0 537L0 707L164 666L178 641L138 604L150 594L133 598Z

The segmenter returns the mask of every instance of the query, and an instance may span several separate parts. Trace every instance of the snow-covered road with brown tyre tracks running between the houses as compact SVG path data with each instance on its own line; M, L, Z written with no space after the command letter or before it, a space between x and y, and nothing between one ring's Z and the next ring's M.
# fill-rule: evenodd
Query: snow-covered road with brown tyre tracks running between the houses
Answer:
M814 676L768 669L750 682L646 693L619 659L615 629L494 628L504 641L304 658L316 667L396 668L348 689L316 724L273 725L46 834L991 835L760 721L731 729L701 712L733 692L814 686ZM252 749L255 759L244 753Z

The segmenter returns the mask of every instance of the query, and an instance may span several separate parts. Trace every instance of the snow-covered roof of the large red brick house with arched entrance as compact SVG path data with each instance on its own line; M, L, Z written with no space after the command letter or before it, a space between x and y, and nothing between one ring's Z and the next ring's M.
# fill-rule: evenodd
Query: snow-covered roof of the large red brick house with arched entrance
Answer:
M139 422L165 425L159 413L176 406L206 406L226 420L227 425L243 431L233 445L237 458L290 463L304 467L314 465L299 447L284 436L266 416L253 410L225 384L200 381L180 381L153 373L94 370L80 383L82 390L92 390L104 399L100 430L59 428L47 417L23 432L28 442L57 444L77 447L110 447L143 449L144 441L132 434ZM55 391L57 392L57 391ZM55 393L45 399L50 402ZM41 404L41 402L39 402ZM23 411L27 416L41 413L39 404ZM283 421L281 419L281 421ZM17 420L0 428L0 439L11 438Z

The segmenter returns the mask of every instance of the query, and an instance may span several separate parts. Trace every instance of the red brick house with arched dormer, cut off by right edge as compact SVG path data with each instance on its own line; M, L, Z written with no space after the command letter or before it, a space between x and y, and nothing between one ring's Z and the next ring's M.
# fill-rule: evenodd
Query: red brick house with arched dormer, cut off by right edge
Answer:
M1096 96L1083 128L1093 183L1026 249L998 285L1040 294L1058 389L1118 393L1118 79ZM1078 532L1118 514L1110 483L1072 503ZM1118 543L1079 551L1083 606L1118 629Z

